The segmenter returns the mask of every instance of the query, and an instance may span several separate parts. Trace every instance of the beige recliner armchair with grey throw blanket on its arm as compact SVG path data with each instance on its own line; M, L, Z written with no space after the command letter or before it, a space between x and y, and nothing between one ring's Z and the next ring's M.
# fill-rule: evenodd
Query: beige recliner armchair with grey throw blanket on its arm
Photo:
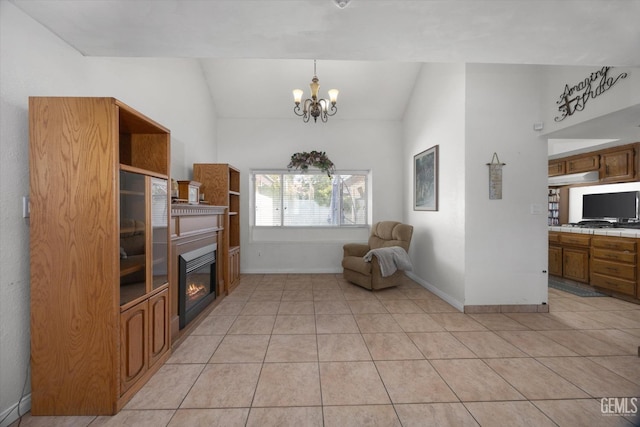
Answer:
M363 288L375 290L397 286L402 283L404 271L397 270L390 276L383 277L380 271L380 262L374 255L371 262L366 262L363 257L371 249L400 246L409 252L409 244L413 234L413 226L396 221L381 221L371 228L369 243L347 243L344 245L344 258L342 258L343 277Z

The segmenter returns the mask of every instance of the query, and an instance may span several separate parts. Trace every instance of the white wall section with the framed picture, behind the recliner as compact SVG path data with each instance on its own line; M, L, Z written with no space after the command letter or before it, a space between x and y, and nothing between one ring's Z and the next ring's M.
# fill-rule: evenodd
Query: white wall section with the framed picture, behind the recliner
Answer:
M412 277L458 308L465 277L465 66L424 64L403 122L404 221ZM413 156L439 146L438 211L413 210Z

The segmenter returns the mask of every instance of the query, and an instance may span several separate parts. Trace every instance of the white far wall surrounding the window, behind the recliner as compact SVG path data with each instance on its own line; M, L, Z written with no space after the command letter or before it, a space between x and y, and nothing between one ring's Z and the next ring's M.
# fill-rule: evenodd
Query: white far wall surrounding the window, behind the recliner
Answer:
M293 114L293 113L292 113ZM338 113L339 115L340 113ZM338 170L370 170L373 222L402 220L402 141L397 121L303 123L302 119L219 119L218 158L240 170L241 271L340 272L342 245L366 242L369 229L277 230L268 237L250 224L250 173L286 170L300 151L326 151ZM318 234L320 233L320 235Z

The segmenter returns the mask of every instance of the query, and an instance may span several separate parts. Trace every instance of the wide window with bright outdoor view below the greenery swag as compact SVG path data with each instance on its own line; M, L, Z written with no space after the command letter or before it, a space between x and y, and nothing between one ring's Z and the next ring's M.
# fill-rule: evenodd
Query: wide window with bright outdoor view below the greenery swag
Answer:
M253 172L257 227L365 226L368 173Z

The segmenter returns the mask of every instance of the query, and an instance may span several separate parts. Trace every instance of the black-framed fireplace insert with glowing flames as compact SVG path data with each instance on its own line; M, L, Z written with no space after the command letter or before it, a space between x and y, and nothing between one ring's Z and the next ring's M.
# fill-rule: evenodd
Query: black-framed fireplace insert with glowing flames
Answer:
M180 329L216 298L216 249L212 244L178 256Z

